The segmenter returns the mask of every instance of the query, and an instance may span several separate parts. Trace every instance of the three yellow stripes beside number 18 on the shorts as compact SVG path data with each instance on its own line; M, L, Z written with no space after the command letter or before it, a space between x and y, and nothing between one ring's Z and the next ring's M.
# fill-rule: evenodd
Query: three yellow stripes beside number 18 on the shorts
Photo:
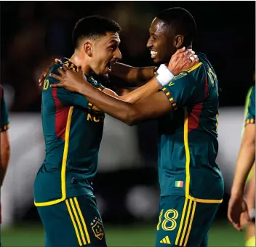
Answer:
M191 227L193 222L193 216L196 211L196 201L192 201L185 198L185 203L183 206L183 214L180 220L180 227L177 232L177 237L175 239L176 246L186 246L188 243L188 237L191 233ZM183 224L184 223L184 224Z

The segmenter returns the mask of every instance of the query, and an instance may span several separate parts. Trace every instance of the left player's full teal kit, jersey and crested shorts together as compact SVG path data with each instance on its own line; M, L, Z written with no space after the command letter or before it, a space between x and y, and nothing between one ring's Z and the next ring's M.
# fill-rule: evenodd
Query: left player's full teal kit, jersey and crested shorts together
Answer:
M67 65L63 59L49 73ZM103 135L104 114L92 110L81 94L52 88L54 78L44 81L41 118L45 159L34 182L35 205L45 230L45 246L105 246L105 234L93 194L92 181ZM99 90L94 78L87 81Z

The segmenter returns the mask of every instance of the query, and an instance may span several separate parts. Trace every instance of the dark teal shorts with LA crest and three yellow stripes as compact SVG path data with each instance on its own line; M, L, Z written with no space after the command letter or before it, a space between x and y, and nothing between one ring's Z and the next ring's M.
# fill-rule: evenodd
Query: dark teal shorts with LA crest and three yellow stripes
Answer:
M45 246L107 246L95 197L82 195L52 206L37 207L44 225Z

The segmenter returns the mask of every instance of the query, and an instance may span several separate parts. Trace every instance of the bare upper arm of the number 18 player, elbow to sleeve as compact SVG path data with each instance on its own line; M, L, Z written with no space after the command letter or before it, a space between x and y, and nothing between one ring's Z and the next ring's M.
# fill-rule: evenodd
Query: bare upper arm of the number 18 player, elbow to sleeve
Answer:
M135 103L135 116L132 117L133 124L141 121L156 119L173 110L168 98L163 92L157 92L143 100Z

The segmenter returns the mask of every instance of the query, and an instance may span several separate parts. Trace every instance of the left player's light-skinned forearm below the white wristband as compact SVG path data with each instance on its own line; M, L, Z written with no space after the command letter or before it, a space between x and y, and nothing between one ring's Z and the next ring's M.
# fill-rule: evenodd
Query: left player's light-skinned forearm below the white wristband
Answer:
M121 100L129 102L131 104L143 100L145 97L157 92L161 88L161 85L156 81L156 76L154 76L147 84L140 86L129 94L121 96Z

